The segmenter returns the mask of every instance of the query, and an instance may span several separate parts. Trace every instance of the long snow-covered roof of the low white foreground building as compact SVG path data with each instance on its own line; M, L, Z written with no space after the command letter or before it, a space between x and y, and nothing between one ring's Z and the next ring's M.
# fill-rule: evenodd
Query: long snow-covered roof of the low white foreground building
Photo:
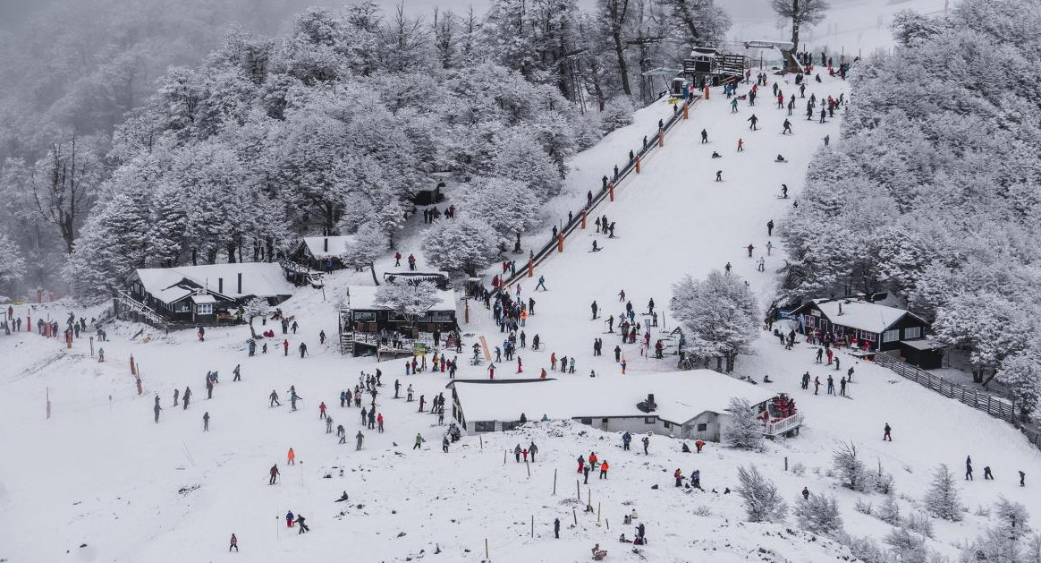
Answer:
M514 420L525 413L537 419L658 416L686 422L711 411L723 413L731 397L752 405L778 394L708 369L607 377L563 376L532 382L456 382L459 402L467 420ZM644 413L636 403L654 394L657 409Z

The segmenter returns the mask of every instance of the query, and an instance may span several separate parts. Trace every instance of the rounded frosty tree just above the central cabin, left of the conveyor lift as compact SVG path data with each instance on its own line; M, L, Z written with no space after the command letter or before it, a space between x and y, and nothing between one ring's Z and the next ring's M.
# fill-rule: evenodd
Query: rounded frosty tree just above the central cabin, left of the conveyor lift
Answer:
M480 219L442 219L424 235L423 253L438 268L476 275L499 255L497 240L496 231Z

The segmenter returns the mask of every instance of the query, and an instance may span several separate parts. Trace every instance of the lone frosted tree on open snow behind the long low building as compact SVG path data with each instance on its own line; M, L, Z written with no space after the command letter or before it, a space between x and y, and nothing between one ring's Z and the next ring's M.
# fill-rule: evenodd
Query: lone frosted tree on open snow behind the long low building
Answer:
M688 275L672 286L672 316L683 323L686 352L695 358L726 360L734 369L739 353L759 338L760 314L756 298L741 278L711 272L702 282Z

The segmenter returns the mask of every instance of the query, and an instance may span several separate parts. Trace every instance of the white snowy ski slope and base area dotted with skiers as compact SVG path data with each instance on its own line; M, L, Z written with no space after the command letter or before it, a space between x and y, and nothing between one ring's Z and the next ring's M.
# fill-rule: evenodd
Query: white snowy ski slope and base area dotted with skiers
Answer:
M847 83L827 76L822 80L811 80L807 96L848 96ZM792 84L782 88L786 95L793 91ZM577 357L574 377L587 380L590 394L598 392L599 381L624 377L610 353L615 337L604 335L601 322L589 318L593 299L604 313L623 311L616 296L621 289L637 311L644 310L651 297L659 310L666 310L670 285L682 275L701 277L730 262L765 304L776 288L773 271L784 260L780 240L767 239L765 223L773 219L779 227L783 224L785 211L798 198L806 165L821 149L826 134L839 142L840 123L838 115L819 124L817 119L799 118L796 111L791 118L794 134L782 136L787 112L769 103L769 87L762 90L755 108L742 103L737 114L731 114L718 92L699 103L664 149L644 163L643 173L619 189L616 200L604 209L616 223L617 238L598 236L590 223L586 232L568 240L565 252L539 268L536 276L545 276L549 291L533 294L536 314L525 329L529 341L539 334L545 347L537 353L520 350L524 375L537 374L556 351ZM655 106L648 112L661 111ZM748 130L753 112L761 120L758 131ZM643 115L639 119L646 121ZM707 145L701 144L702 128L709 133ZM630 129L632 133L642 134L638 128ZM621 146L626 134L617 133ZM739 138L745 146L741 153L736 152ZM713 150L722 158L710 158ZM778 153L789 162L773 163ZM601 149L601 168L607 170L613 164L607 157L617 156L616 151ZM596 169L596 158L587 158L585 166ZM723 171L725 181L713 181L716 170ZM596 182L599 175L590 174ZM781 183L788 185L792 199L777 197ZM827 225L821 229L827 232ZM588 252L598 237L604 250ZM766 272L760 273L755 263L767 240L776 246L766 259ZM756 246L754 259L746 258L750 243ZM721 492L736 486L737 466L754 463L786 498L793 499L804 486L832 491L847 531L884 536L891 529L888 524L853 510L855 498L878 503L881 496L850 493L829 475L831 452L842 441L856 443L868 465L878 460L894 474L905 514L914 510L937 464L948 464L957 474L967 455L977 475L990 465L997 476L962 484L967 507L988 506L1004 494L1041 514L1041 495L1031 493L1035 475L1041 474L1041 454L1007 423L863 363L856 364L850 398L814 396L798 390L797 384L806 370L821 378L828 373L813 364L813 349L784 350L766 333L755 356L738 359L738 374L761 381L768 373L776 382L771 386L795 397L807 423L799 437L771 443L765 452L710 444L705 454L684 455L678 441L654 437L651 455L643 456L638 448L623 452L616 435L552 422L464 437L443 454L443 429L436 418L417 412L416 402L390 395L393 380L400 378L403 391L412 385L416 397L423 394L429 400L445 391L447 376L405 376L404 361L377 365L373 359L340 356L331 340L319 344L319 331L335 334L334 303L342 288L369 283L367 272L340 272L331 276L324 294L298 290L282 305L301 325L299 335L287 336L288 356L272 346L266 354L258 350L247 358L249 331L242 326L207 331L205 342L191 332L166 336L148 329L145 336L151 340L144 342L131 339L138 325L119 323L108 331L110 342L101 344L107 358L103 364L90 357L84 340L66 349L35 335L0 337L0 560L215 563L430 557L568 562L589 560L589 548L599 542L609 550L609 561L826 561L842 557L845 548L786 531L796 530L793 518L787 525L743 522L740 498ZM527 299L535 283L520 285ZM54 304L33 311L33 318L41 314L62 319L67 313ZM463 333L473 336L464 339L464 349L478 336L492 346L501 342L503 335L492 326L489 312L472 307L471 319ZM672 326L670 317L665 323ZM607 351L592 358L596 337L604 338ZM308 358L295 353L301 341L308 344ZM672 369L672 360L642 359L636 345L624 348L633 372ZM137 396L129 375L131 354L142 367L144 396ZM232 383L231 369L239 363L243 381ZM853 359L843 357L842 372L849 365ZM364 447L355 451L359 411L340 409L336 398L357 383L360 372L377 367L384 383L377 409L386 419L386 433L364 430ZM509 367L504 363L497 376L517 376ZM213 398L206 399L203 381L212 369L220 371L221 384ZM598 378L586 376L590 369ZM831 373L837 377L839 372ZM467 366L461 359L458 377L483 376L483 367ZM303 397L298 412L286 406L290 385ZM173 391L185 386L192 387L195 400L187 410L175 409ZM283 407L269 408L273 389ZM48 393L53 413L49 420ZM158 424L152 421L153 394L163 408ZM346 426L346 445L325 433L320 401L329 407L336 424ZM209 433L202 432L203 412L211 416ZM504 419L518 416L503 413ZM886 422L893 426L893 442L881 441ZM416 433L427 440L420 449L412 448ZM540 454L529 476L529 466L504 455L531 440ZM285 465L289 447L297 452L291 467ZM590 450L610 462L609 479L591 474L588 486L577 486L575 459ZM785 458L805 472L784 471ZM281 482L269 486L268 469L275 463ZM672 488L677 467L685 474L701 469L708 492ZM1025 491L1014 478L1019 469L1027 473ZM576 489L581 503L575 499ZM334 503L342 491L350 494L350 503ZM595 514L582 512L587 499L601 511L600 522ZM616 541L623 532L632 537L633 528L621 527L620 520L633 509L651 540L641 554ZM311 533L301 536L285 528L287 510L304 514ZM552 538L554 518L562 523L560 540ZM937 539L930 547L955 555L953 544L973 538L986 521L971 513L959 523L937 521ZM227 552L232 533L242 553Z

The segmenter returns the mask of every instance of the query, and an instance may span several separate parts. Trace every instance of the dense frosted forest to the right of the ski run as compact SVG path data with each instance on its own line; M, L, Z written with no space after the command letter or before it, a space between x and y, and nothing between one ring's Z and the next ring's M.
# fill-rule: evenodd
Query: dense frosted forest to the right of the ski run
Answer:
M997 370L1027 414L1041 382L1041 13L965 0L903 14L854 73L844 142L783 223L787 297L893 291Z

